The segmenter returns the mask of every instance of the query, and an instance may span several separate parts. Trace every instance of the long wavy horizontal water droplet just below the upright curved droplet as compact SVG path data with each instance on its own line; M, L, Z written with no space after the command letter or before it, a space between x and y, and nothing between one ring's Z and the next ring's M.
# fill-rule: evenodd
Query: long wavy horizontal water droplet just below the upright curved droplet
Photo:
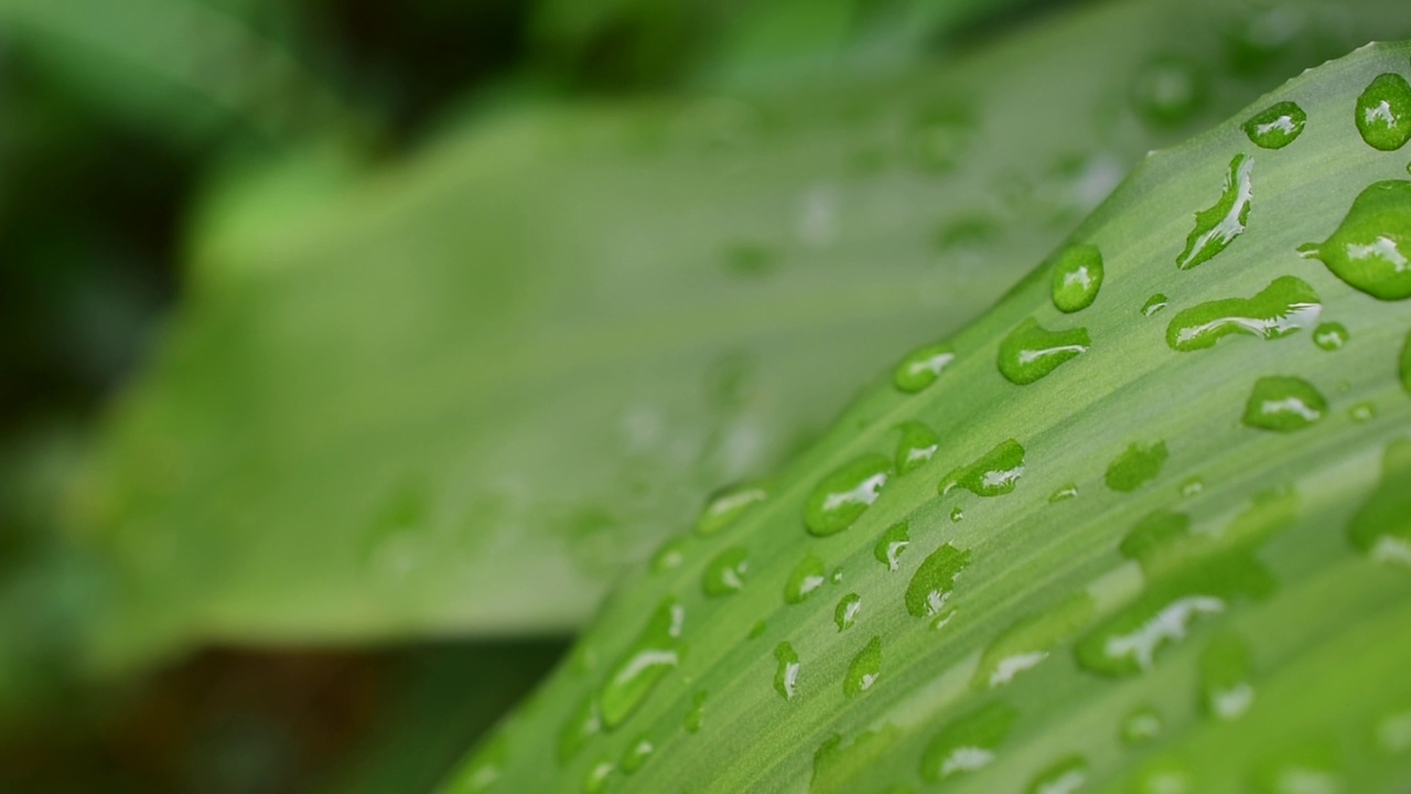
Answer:
M1209 301L1177 314L1165 329L1165 343L1185 353L1213 348L1232 333L1281 339L1314 325L1319 314L1322 304L1314 288L1281 275L1253 298Z

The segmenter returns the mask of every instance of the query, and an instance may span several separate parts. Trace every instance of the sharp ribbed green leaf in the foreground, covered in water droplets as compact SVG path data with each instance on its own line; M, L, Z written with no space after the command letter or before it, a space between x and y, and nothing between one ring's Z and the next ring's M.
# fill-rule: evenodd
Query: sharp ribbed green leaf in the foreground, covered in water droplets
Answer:
M1055 254L947 340L934 383L878 379L769 499L625 582L576 651L597 664L560 668L502 728L499 754L470 762L480 784L466 771L444 790L577 791L590 769L621 793L1405 790L1405 305L1298 256L1353 222L1386 240L1366 256L1407 250L1411 203L1359 203L1411 184L1411 150L1364 141L1353 114L1386 73L1411 73L1411 44L1357 49L1147 158L1068 240L1102 253L1091 307L1053 305ZM1242 126L1276 102L1307 124L1264 150ZM1242 233L1184 268L1232 161L1253 162ZM1301 287L1270 287L1287 278ZM1171 308L1143 312L1153 292ZM1243 332L1184 345L1171 329L1188 312L1198 333ZM1340 348L1315 340L1331 319ZM1016 381L1006 339L1034 322L1089 343ZM1302 421L1264 421L1271 403ZM835 472L890 459L910 422L941 439L934 455L868 486L848 526L810 533L818 483L864 493ZM904 554L878 554L897 538ZM749 578L706 598L721 548ZM806 555L838 572L790 603L780 586ZM847 630L840 598L856 599ZM680 610L680 663L555 756L564 718L605 697L663 599ZM772 647L789 650L787 697ZM617 770L643 737L652 757Z

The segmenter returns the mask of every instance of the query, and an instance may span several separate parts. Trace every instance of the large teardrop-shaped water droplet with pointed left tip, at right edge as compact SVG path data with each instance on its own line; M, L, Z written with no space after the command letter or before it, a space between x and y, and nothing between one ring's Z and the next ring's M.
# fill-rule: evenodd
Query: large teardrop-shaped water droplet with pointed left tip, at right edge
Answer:
M1411 298L1411 182L1373 182L1352 201L1338 230L1298 247L1333 275L1380 301Z

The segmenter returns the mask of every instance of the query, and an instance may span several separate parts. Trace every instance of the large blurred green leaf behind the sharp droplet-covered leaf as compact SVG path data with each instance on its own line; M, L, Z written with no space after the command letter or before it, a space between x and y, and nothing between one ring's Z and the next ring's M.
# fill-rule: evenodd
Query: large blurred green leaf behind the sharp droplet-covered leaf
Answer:
M979 314L1144 151L1357 41L1291 8L1257 57L1261 10L1197 25L1163 0L851 83L519 110L275 232L210 219L73 496L111 568L93 656L579 627L707 494ZM1199 103L1144 88L1171 30ZM916 365L913 386L941 366Z

